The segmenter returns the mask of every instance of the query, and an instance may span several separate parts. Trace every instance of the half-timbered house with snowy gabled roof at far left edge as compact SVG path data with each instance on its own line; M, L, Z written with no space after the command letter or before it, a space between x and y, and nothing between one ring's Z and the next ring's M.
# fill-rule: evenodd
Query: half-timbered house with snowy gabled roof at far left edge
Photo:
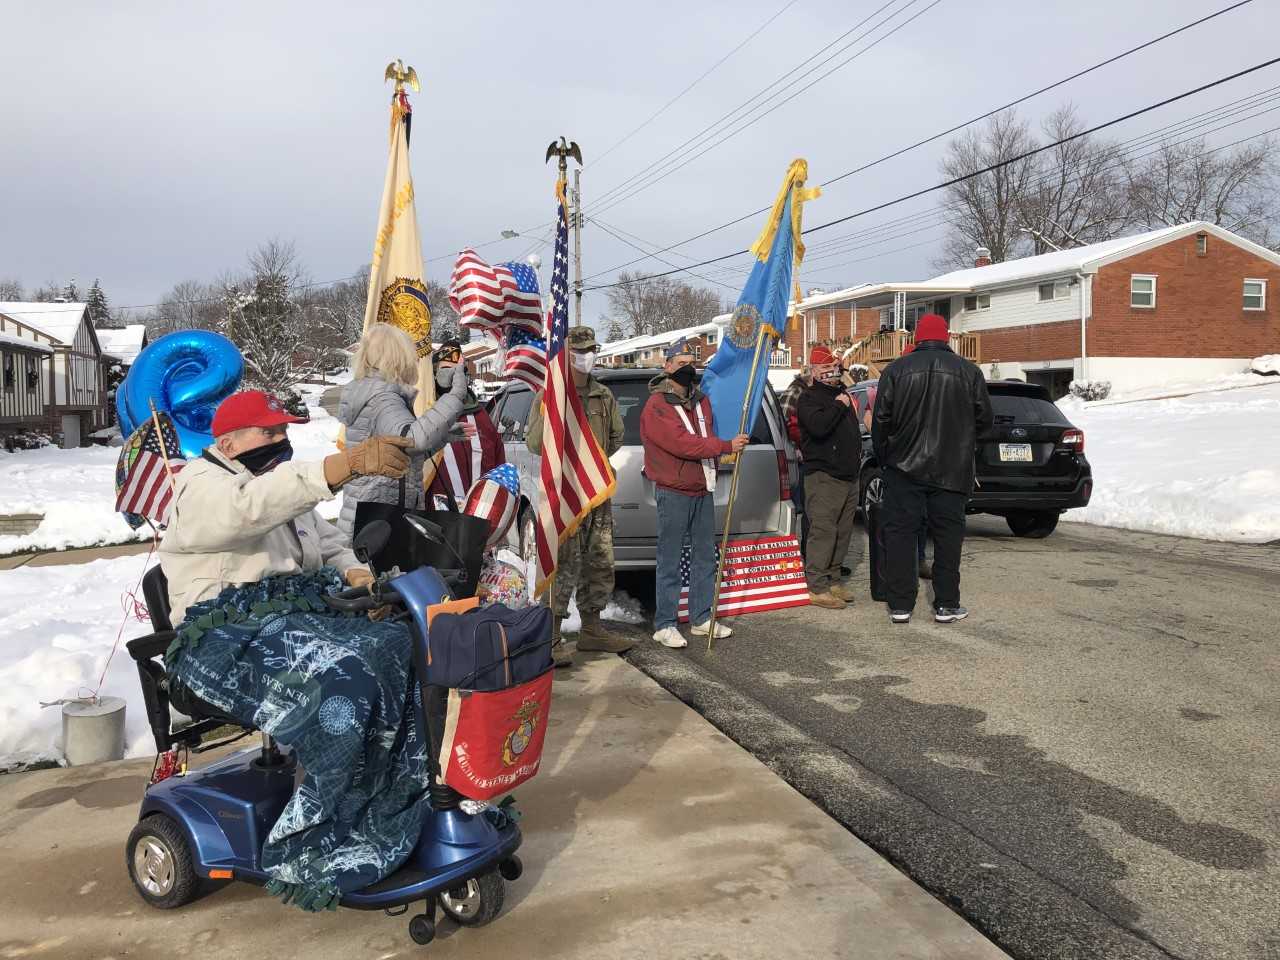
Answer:
M106 364L111 361L102 356L83 303L0 302L0 335L51 351L47 372L37 364L42 410L20 415L20 425L61 435L69 448L87 444L90 434L110 424ZM29 371L22 379L31 383Z

